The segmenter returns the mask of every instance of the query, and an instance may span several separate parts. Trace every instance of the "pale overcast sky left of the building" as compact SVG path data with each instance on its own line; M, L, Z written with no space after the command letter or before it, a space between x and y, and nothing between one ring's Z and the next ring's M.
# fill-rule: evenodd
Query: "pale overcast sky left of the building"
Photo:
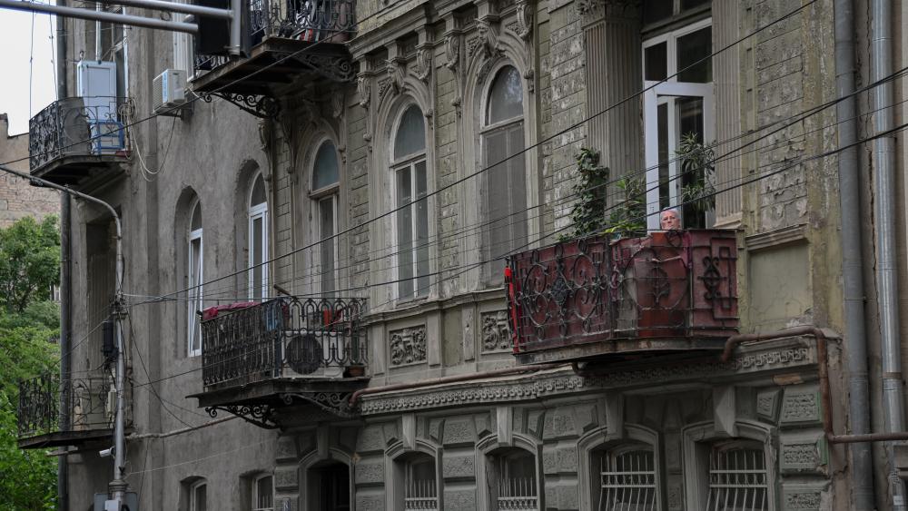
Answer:
M0 9L0 113L9 115L10 134L27 132L28 120L56 99L54 16L32 21L31 13Z

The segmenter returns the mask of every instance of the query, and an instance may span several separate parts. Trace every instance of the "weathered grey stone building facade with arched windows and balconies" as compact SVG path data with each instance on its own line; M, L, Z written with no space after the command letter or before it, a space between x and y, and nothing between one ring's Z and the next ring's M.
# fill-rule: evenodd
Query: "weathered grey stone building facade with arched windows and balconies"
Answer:
M125 134L32 171L123 217L143 509L893 508L895 457L873 451L867 488L832 441L854 431L834 2L304 4L256 11L242 57L110 25L100 50L69 41L117 64L126 99L79 108ZM169 68L198 99L153 116ZM715 144L706 211L675 157L691 133ZM575 240L582 148L607 213L641 183L648 237ZM657 232L679 204L710 230ZM106 388L112 219L79 203L71 228L72 380ZM89 422L54 440L70 509L111 477Z

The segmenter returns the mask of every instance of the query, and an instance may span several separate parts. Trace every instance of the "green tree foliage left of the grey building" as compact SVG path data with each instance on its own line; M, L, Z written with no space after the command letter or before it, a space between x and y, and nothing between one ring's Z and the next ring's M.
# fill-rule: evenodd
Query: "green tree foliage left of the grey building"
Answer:
M56 458L18 447L19 380L58 371L59 306L47 300L59 280L55 218L31 218L0 230L0 511L50 510L56 499Z

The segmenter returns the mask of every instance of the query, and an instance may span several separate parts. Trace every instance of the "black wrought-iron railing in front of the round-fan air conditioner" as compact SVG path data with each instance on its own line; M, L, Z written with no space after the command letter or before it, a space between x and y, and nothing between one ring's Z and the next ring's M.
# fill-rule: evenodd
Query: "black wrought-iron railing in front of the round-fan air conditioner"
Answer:
M361 376L367 334L360 299L277 299L205 310L205 390L269 378Z

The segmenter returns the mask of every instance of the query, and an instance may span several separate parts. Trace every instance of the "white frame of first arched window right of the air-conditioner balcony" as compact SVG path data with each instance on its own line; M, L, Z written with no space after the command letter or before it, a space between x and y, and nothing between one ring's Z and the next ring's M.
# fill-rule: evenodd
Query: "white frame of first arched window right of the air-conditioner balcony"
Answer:
M417 209L416 209L417 202L416 201L418 199L417 191L416 191L417 190L417 188L416 188L416 186L417 186L416 185L416 166L420 162L424 162L425 166L426 166L426 196L427 196L427 198L424 199L424 201L426 201L426 217L427 217L426 224L427 224L427 229L428 229L427 235L429 236L429 238L431 238L431 214L430 214L431 209L429 208L429 205L430 205L429 194L431 193L431 179L430 179L431 174L429 173L429 144L425 143L423 145L423 149L421 152L414 152L411 154L407 154L406 156L404 156L400 159L396 159L395 155L394 155L394 145L395 145L395 142L397 141L397 135L400 132L400 123L403 121L403 115L404 115L404 113L407 113L407 111L410 110L410 108L413 106L416 106L416 108L419 109L419 113L422 113L423 115L425 115L425 113L423 113L423 111L422 111L422 108L416 103L407 103L407 104L403 105L400 108L400 112L398 113L397 121L394 123L395 129L394 129L394 132L392 133L392 136L390 137L389 152L388 152L390 154L391 204L394 209L397 209L400 207L400 204L398 203L400 197L398 194L398 187L397 187L398 172L410 172L410 197L412 198L412 200L410 201L410 204L408 206L412 210L412 214L410 215L410 232L412 234L411 255L413 258L413 263L412 263L413 278L410 280L412 280L412 282L413 282L413 294L410 296L402 296L400 288L401 288L401 285L403 284L403 282L402 281L397 282L397 285L394 288L395 295L397 296L398 300L401 300L401 301L419 300L419 299L426 298L429 296L429 294L432 290L432 287L433 287L431 278L429 277L429 288L426 290L422 290L422 292L420 292L420 290L419 290L419 256L418 256L419 246L417 245L417 239L419 238L419 235L417 234L417 232L419 230L419 225L418 225L417 215L416 215L416 211L417 211ZM423 136L423 139L425 139L425 137L426 137L425 121L423 121L422 128L423 128L422 136ZM402 210L400 210L400 211L402 211ZM401 251L401 248L400 248L400 237L398 236L399 233L398 233L398 228L397 228L397 225L398 225L397 215L400 214L400 211L395 212L394 219L393 219L393 221L391 221L391 229L390 229L391 239L394 241L393 246L395 247L395 253L398 254L394 258L394 280L401 279L401 277L400 277L400 251ZM430 275L432 272L432 253L431 253L430 244L429 244L428 249L429 249L429 275Z

